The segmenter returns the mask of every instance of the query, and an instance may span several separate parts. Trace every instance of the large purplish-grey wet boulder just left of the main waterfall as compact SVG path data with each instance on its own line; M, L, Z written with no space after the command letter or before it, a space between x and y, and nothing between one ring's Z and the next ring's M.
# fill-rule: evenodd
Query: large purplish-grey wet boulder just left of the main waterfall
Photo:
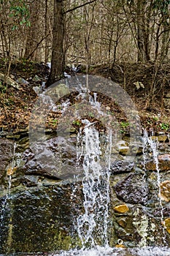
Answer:
M23 153L24 173L57 179L72 179L77 174L81 175L81 170L76 167L75 144L75 140L61 136L33 143L31 148Z

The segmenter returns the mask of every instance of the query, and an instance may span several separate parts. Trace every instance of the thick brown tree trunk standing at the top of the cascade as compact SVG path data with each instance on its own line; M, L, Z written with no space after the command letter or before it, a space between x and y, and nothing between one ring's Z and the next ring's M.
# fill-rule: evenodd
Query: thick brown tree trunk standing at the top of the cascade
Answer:
M64 15L63 0L54 0L53 48L50 75L46 87L63 77L65 58L63 54Z

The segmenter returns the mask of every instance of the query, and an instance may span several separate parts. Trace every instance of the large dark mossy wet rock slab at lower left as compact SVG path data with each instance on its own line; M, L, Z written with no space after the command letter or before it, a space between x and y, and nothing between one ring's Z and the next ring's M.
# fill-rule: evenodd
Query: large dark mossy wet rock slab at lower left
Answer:
M77 205L81 206L81 190L77 192L76 201L72 201L71 194L69 184L58 184L26 190L20 187L20 191L17 189L9 195L8 208L1 223L0 253L25 252L28 255L28 252L51 252L74 247L78 241L74 217L77 216ZM0 211L1 203L0 198ZM10 231L12 240L7 246Z

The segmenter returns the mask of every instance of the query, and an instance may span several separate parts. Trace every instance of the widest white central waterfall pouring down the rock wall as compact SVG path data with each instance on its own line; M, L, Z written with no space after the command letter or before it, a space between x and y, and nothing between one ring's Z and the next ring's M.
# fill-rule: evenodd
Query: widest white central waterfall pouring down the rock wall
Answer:
M105 148L107 167L101 166L100 138L94 123L82 120L84 129L77 136L80 148L77 162L83 159L82 193L84 196L84 214L77 217L77 232L82 248L93 248L96 245L108 246L107 225L109 215L109 170L110 152L112 148L112 132L107 135ZM78 165L80 166L80 164Z

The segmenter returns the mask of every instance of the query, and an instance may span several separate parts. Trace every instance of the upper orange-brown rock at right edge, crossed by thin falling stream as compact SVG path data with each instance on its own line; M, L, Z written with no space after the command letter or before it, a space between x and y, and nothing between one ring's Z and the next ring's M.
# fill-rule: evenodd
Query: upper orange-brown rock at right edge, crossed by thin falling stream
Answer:
M170 154L158 156L158 167L161 171L170 170ZM156 170L156 164L152 160L146 163L147 170Z

